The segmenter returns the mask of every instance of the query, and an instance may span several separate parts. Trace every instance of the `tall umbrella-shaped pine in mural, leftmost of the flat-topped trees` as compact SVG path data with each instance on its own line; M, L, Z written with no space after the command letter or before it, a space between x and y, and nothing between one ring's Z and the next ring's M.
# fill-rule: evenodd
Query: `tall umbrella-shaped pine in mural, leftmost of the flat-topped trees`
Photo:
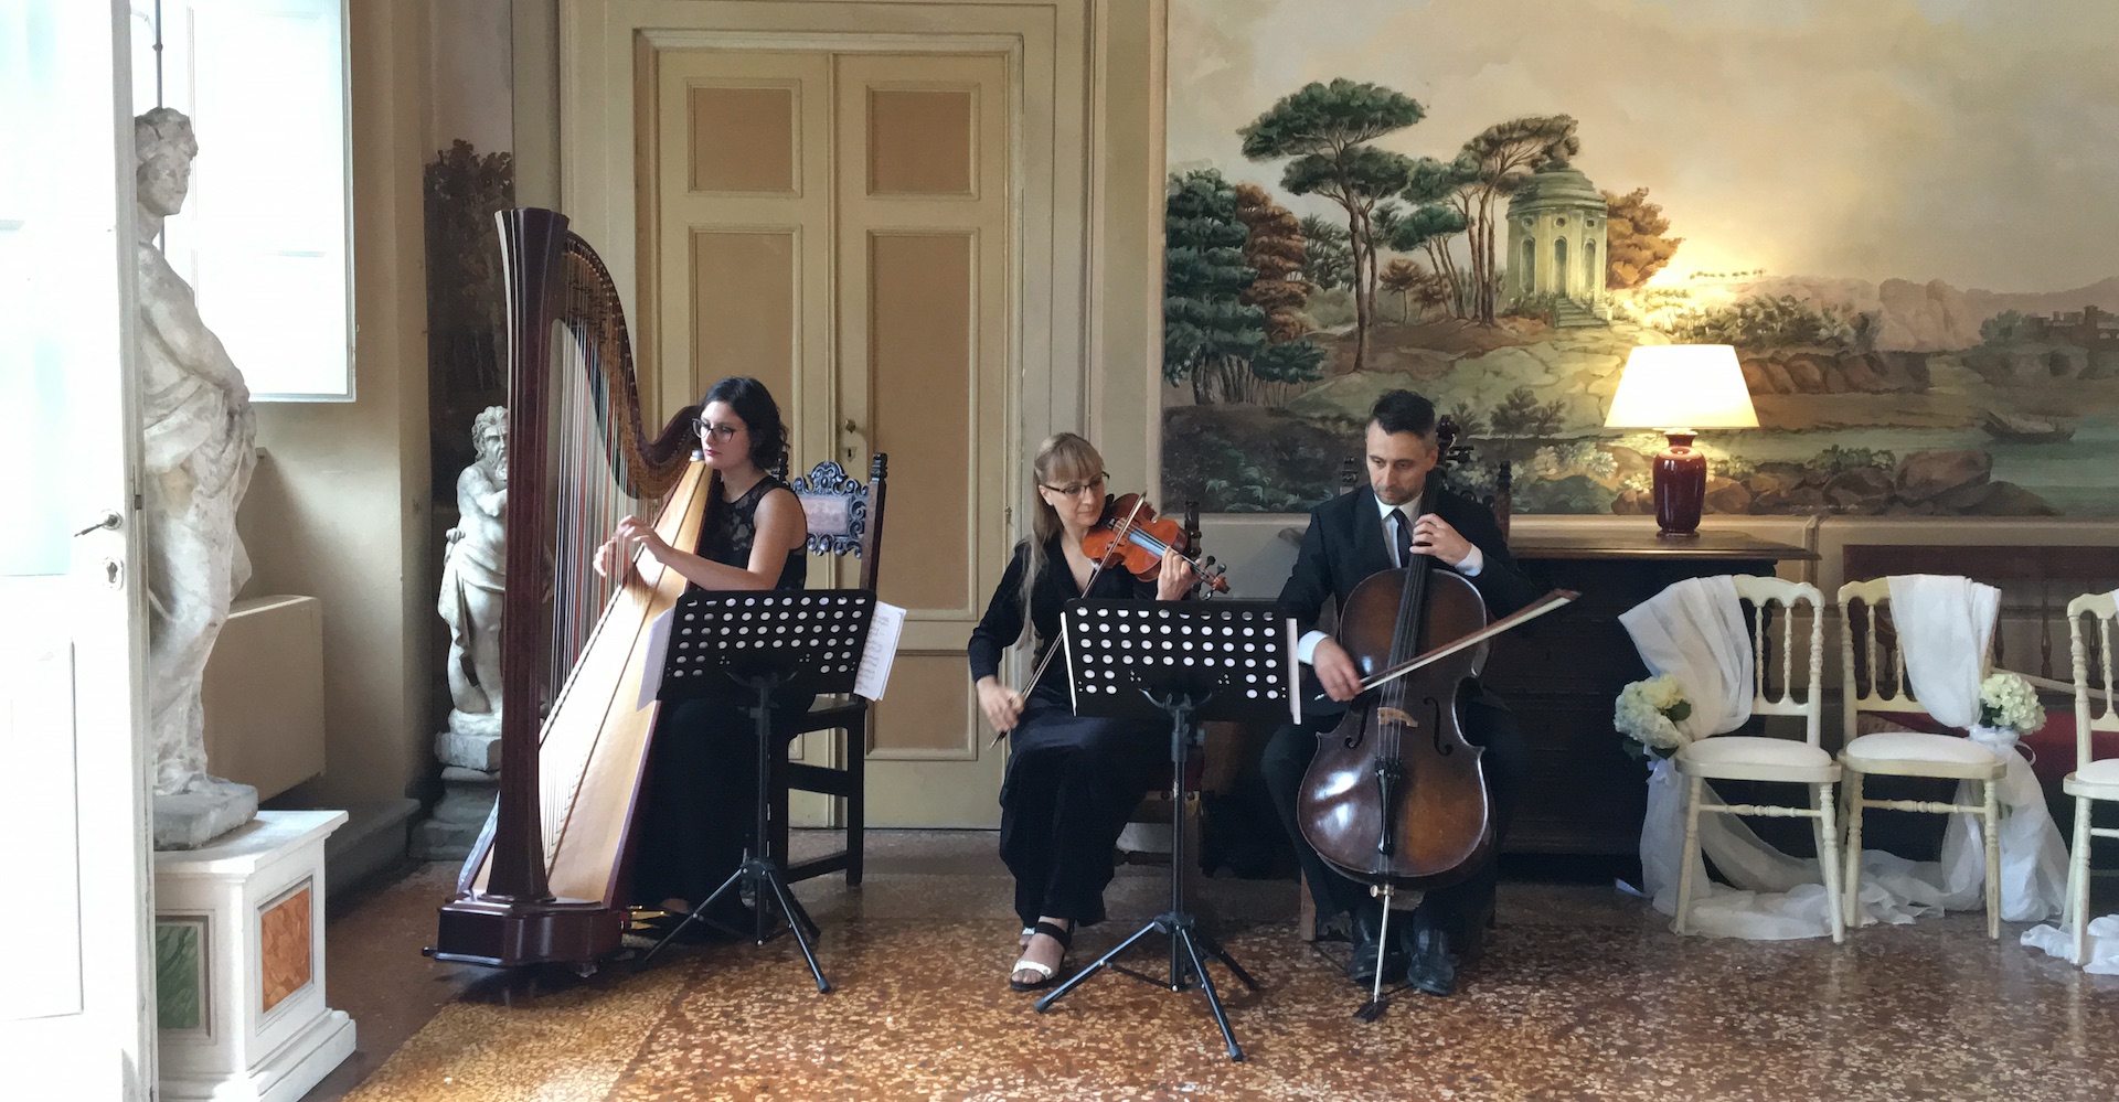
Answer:
M1324 195L1346 210L1348 246L1354 261L1354 369L1369 352L1369 320L1375 314L1375 206L1399 193L1411 172L1411 157L1375 148L1386 134L1426 117L1411 95L1363 81L1335 78L1305 85L1259 114L1237 134L1244 157L1278 161L1290 157L1280 186L1290 195Z

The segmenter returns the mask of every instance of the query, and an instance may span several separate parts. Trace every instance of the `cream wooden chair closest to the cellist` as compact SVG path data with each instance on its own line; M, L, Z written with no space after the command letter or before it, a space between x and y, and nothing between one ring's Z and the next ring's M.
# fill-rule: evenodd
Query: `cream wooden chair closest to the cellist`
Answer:
M1822 746L1824 735L1824 596L1799 581L1755 579L1738 574L1735 596L1752 606L1750 661L1755 716L1801 716L1803 742L1763 735L1714 735L1689 742L1678 750L1676 767L1685 788L1685 865L1678 873L1676 932L1687 932L1693 901L1693 865L1699 860L1699 814L1808 818L1818 846L1818 869L1824 899L1833 911L1833 941L1846 939L1839 901L1839 824L1833 822L1833 784L1839 763ZM1801 606L1810 606L1810 668L1797 678L1795 642ZM1780 632L1774 632L1774 606L1780 606ZM1780 676L1774 678L1778 659ZM1801 693L1797 693L1801 689ZM1757 803L1706 803L1710 780L1765 780L1803 784L1808 807Z

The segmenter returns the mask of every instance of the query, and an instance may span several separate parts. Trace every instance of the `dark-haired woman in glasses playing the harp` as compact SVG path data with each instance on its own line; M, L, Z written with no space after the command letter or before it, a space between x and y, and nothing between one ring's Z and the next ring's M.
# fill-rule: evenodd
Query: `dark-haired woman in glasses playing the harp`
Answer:
M699 547L672 547L638 517L598 549L595 572L629 568L640 551L699 589L801 589L809 572L809 521L801 500L771 475L786 464L786 426L765 384L729 377L699 398L699 460L712 470ZM780 701L778 714L799 716L809 695ZM742 708L748 691L665 706L655 723L634 846L634 901L684 913L744 860L756 831L756 742ZM727 894L712 916L750 928L748 909ZM699 928L699 926L693 926Z

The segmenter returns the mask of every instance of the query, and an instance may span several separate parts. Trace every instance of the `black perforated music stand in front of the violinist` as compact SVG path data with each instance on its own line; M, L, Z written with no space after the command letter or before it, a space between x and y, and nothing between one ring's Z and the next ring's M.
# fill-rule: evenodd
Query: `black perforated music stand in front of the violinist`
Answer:
M1091 975L1112 968L1134 979L1191 990L1197 979L1214 1011L1229 1060L1244 1060L1229 1030L1229 1015L1206 973L1221 960L1246 988L1259 983L1212 937L1197 930L1185 909L1185 757L1204 718L1301 721L1295 680L1295 621L1274 602L1121 602L1074 600L1064 610L1068 680L1079 716L1168 716L1170 767L1170 909L1121 941L1093 964L1068 977L1036 1002L1038 1013ZM1136 973L1117 962L1151 932L1170 937L1170 979Z

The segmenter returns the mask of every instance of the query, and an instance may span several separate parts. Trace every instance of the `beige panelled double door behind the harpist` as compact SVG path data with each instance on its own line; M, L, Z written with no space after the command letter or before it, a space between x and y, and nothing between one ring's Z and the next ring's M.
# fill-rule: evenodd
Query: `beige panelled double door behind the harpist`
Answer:
M831 458L865 479L890 456L879 596L909 617L867 820L992 826L1002 763L964 642L1009 553L1009 59L665 49L653 72L642 305L663 407L752 375L797 473ZM852 566L818 559L812 585ZM835 765L831 742L795 752ZM829 814L797 803L795 822Z

